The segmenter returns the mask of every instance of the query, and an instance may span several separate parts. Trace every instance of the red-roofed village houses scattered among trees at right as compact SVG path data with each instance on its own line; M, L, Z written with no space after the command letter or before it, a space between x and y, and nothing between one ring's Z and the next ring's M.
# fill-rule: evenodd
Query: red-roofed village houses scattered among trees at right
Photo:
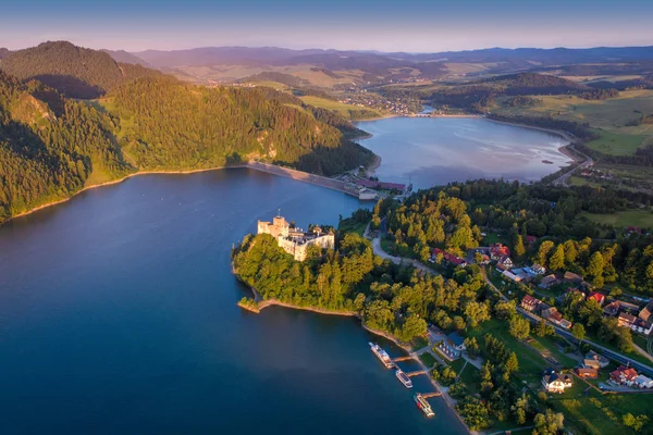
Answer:
M529 241L534 243L534 237L529 237ZM510 249L501 243L471 249L465 258L434 248L429 262L463 268L472 263L491 266L492 281L497 287L510 288L508 294L515 296L520 311L532 316L531 320L543 320L566 331L570 331L574 324L562 315L558 308L569 293L577 298L595 302L603 309L604 316L617 319L619 326L630 328L633 334L648 339L653 331L653 300L620 300L594 289L579 274L569 271L562 275L550 273L546 268L537 263L516 264L510 257ZM516 295L517 291L522 295ZM453 332L436 348L441 356L451 361L469 359L464 343L463 337ZM551 360L552 368L541 373L541 389L547 394L563 394L575 383L602 393L653 393L653 378L640 373L629 363L611 361L594 350L582 353L578 348L576 351L567 349L565 353L571 358L566 360L575 360L576 364L565 366L560 361L551 359L549 353L544 351L543 356Z

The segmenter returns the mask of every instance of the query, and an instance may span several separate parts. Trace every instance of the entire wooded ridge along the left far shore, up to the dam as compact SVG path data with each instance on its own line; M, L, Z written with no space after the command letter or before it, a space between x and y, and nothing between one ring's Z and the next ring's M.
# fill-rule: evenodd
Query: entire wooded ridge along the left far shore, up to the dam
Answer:
M331 175L371 159L333 126L342 120L268 94L159 75L118 86L99 105L0 71L0 223L139 170L255 159Z

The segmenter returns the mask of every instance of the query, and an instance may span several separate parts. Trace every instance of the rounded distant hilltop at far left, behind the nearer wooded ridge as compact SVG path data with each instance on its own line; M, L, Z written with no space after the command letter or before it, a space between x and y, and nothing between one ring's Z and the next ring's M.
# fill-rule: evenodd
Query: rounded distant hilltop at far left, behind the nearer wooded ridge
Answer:
M0 60L0 69L22 80L35 78L66 97L81 99L98 98L125 82L160 74L141 65L118 63L106 52L66 41L10 52Z

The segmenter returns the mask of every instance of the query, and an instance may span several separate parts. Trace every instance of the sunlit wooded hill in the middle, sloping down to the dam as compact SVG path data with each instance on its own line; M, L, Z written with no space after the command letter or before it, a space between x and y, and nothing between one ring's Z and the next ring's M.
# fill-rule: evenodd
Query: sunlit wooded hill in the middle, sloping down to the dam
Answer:
M125 154L146 170L256 159L331 175L371 157L308 110L269 99L257 88L205 88L169 76L147 77L120 86L102 103L121 120Z

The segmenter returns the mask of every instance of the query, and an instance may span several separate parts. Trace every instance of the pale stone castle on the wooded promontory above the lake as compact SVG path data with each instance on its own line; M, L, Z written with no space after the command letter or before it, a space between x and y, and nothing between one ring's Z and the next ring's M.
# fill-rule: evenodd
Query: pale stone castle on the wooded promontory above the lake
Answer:
M320 248L333 248L335 237L333 232L323 233L319 226L313 227L306 233L301 228L291 224L280 215L272 219L272 223L258 221L258 234L270 234L276 239L276 243L284 251L295 257L297 261L306 259L306 250L310 245L318 245Z

